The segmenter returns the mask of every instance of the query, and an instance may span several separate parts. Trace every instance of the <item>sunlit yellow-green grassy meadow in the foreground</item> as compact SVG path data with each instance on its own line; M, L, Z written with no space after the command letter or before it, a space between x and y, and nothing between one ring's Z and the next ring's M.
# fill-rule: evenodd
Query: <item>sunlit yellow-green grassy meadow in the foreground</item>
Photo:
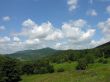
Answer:
M54 64L55 70L64 68L65 72L39 75L24 75L21 82L110 82L110 63L91 64L85 71L76 71L76 63Z

